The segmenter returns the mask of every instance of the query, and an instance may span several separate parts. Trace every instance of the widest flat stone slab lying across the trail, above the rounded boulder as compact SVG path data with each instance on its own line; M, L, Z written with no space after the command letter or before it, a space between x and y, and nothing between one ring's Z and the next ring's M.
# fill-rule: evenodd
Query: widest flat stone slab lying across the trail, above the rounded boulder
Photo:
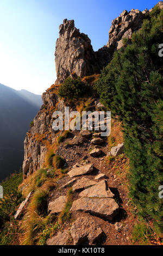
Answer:
M70 211L84 211L106 218L109 221L118 214L119 206L112 198L79 198L72 204Z

